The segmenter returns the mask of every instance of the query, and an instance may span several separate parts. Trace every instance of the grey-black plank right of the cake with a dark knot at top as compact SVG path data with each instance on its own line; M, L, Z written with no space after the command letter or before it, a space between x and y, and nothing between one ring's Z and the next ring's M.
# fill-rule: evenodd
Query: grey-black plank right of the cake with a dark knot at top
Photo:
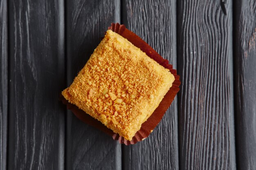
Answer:
M235 170L232 2L177 1L181 170Z

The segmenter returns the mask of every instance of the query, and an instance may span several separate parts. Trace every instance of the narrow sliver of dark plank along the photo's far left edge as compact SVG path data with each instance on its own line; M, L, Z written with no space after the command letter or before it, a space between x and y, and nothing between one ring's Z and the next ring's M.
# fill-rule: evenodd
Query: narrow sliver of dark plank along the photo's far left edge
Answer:
M8 42L7 0L0 0L0 170L7 161Z

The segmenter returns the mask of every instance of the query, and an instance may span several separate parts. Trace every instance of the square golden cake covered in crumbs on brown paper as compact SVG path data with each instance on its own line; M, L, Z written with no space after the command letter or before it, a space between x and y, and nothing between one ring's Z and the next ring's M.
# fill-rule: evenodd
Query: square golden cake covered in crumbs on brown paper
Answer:
M113 132L131 140L174 80L167 68L108 30L62 95Z

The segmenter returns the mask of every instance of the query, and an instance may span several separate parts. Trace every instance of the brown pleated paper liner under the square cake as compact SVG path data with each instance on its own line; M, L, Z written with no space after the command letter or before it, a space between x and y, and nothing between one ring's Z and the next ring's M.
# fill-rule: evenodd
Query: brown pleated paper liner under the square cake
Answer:
M164 113L171 105L171 102L173 101L175 95L180 90L180 76L177 75L177 71L173 69L173 66L171 64L168 64L168 60L165 60L163 57L161 57L151 46L149 46L146 42L139 38L138 35L126 29L124 25L120 25L119 23L112 23L111 26L108 27L108 29L111 29L112 31L123 36L124 38L129 40L133 45L141 49L141 51L145 52L150 58L155 60L157 63L159 63L165 68L168 68L175 77L173 86L166 93L166 95L162 99L162 102L160 102L159 106L155 109L153 114L141 125L140 130L136 132L135 136L132 138L131 141L124 139L124 137L121 137L119 134L113 132L111 129L107 128L97 119L94 119L74 104L69 103L62 95L60 99L62 100L63 104L67 105L67 109L71 110L74 113L74 115L76 115L76 117L78 117L81 121L85 122L86 124L94 126L95 128L98 128L99 130L112 136L113 139L118 140L120 144L136 144L138 141L144 140L146 137L148 137L148 135L150 135L153 129L161 121L162 117L164 116Z

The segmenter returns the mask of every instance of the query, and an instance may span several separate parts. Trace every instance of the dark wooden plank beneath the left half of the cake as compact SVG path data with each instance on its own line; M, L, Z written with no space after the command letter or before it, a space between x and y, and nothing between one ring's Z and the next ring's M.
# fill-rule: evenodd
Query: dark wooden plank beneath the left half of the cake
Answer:
M111 22L120 22L120 2L67 1L67 84L70 85ZM121 145L67 114L67 169L121 169Z

